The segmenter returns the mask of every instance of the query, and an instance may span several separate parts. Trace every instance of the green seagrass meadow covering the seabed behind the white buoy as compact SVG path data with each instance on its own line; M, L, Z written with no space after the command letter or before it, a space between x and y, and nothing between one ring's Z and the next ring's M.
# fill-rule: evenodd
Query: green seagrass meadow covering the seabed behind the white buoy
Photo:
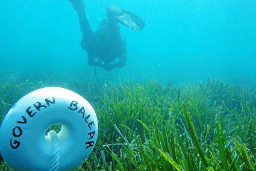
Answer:
M252 86L214 79L182 85L133 79L99 84L5 76L1 117L23 95L50 85L84 96L98 116L95 149L77 170L256 169ZM0 168L12 170L5 162Z

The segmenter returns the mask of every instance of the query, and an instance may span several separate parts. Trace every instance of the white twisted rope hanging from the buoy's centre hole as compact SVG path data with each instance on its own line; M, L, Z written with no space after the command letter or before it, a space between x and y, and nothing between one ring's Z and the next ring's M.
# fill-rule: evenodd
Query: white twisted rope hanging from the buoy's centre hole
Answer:
M60 162L60 140L54 130L49 131L48 135L52 141L51 161L49 171L57 171Z

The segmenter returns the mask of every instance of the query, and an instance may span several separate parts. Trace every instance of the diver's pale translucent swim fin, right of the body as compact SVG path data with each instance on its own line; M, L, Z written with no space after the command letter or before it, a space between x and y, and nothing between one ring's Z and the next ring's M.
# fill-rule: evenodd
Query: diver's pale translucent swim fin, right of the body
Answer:
M136 14L123 10L116 5L107 5L107 13L111 16L116 17L116 19L125 26L133 28L135 30L142 30L145 26L145 22L140 19Z

